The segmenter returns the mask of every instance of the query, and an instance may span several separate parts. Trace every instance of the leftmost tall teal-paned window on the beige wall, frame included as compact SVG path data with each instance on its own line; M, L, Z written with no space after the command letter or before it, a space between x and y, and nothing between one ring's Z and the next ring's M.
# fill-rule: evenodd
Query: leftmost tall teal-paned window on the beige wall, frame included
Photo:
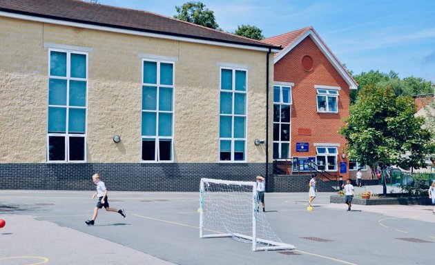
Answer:
M50 49L47 161L86 161L88 54Z

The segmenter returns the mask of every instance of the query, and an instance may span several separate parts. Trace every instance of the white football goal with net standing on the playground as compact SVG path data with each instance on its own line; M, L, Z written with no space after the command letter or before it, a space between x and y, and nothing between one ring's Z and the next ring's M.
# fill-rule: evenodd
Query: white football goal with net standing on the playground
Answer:
M273 231L266 215L257 211L256 183L201 179L200 237L233 237L252 243L252 251L293 249Z

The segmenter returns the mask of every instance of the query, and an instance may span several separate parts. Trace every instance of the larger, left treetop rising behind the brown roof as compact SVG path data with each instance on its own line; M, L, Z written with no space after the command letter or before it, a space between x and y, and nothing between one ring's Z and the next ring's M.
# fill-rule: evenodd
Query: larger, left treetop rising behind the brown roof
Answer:
M183 6L175 6L177 13L174 18L201 25L207 28L219 29L213 11L205 8L202 2L187 2Z

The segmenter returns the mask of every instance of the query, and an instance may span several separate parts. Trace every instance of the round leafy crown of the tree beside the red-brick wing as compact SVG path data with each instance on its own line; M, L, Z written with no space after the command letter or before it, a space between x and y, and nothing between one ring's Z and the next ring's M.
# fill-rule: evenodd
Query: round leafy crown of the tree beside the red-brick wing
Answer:
M383 75L374 78L383 79ZM374 84L360 90L340 134L347 139L349 159L376 166L421 168L434 152L425 119L414 117L411 97L397 96L390 86Z

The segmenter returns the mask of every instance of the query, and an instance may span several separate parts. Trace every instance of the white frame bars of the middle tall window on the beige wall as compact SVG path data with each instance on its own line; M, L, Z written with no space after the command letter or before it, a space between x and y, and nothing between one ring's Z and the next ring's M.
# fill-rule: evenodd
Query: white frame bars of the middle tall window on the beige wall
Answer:
M143 86L155 86L155 88L157 89L157 96L156 96L156 108L155 110L142 110L142 101L141 101L141 116L140 116L140 128L141 128L141 138L140 138L140 157L139 157L139 161L141 163L171 163L174 161L174 123L175 123L175 114L174 114L174 107L175 107L175 61L168 61L168 60L164 60L164 59L155 59L156 57L153 58L141 58L141 68L142 68L142 77L141 77L141 90ZM157 63L157 80L156 80L156 84L148 84L148 83L144 83L144 62L145 61L151 61L151 62L155 62ZM172 70L172 86L169 85L162 85L160 84L160 64L161 63L171 63L173 65L173 70ZM168 110L159 110L159 97L160 97L160 88L172 88L172 93L173 93L173 97L172 97L172 111L168 111ZM142 95L142 93L141 93ZM156 114L155 117L155 135L142 135L142 114L144 112L153 112ZM171 124L171 130L172 130L172 134L171 136L160 136L159 135L159 113L171 113L172 114L172 124ZM154 139L155 142L155 147L154 147L154 160L142 160L142 144L143 144L143 139ZM161 160L160 159L160 139L170 139L171 140L171 159L170 160Z

